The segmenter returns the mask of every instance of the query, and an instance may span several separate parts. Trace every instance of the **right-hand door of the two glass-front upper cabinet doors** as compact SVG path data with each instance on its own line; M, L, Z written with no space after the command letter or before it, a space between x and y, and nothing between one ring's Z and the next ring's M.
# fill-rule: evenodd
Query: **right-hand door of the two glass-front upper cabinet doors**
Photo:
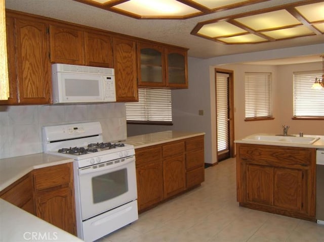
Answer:
M167 49L167 86L188 88L187 51Z

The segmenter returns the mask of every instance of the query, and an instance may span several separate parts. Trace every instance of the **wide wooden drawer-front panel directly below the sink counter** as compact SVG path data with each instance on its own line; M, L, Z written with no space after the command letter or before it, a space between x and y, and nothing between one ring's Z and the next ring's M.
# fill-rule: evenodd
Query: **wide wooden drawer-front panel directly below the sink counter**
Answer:
M308 166L315 149L279 146L239 146L239 158L278 166Z

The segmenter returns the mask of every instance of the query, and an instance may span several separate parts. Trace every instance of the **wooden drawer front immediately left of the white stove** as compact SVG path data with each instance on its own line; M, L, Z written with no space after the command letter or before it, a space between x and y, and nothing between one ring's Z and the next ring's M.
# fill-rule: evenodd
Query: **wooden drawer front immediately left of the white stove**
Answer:
M34 170L34 188L41 190L70 183L71 173L72 163Z

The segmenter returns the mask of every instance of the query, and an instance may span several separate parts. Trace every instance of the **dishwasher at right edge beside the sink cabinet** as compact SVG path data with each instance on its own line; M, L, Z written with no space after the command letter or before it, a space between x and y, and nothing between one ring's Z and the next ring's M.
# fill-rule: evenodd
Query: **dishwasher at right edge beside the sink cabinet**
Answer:
M316 219L324 224L324 150L316 151Z

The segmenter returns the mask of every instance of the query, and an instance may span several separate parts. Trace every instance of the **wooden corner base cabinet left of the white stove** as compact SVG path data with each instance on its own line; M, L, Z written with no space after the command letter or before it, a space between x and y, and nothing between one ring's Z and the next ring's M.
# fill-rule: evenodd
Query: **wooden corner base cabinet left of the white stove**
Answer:
M76 235L72 163L33 170L1 191L0 197Z

